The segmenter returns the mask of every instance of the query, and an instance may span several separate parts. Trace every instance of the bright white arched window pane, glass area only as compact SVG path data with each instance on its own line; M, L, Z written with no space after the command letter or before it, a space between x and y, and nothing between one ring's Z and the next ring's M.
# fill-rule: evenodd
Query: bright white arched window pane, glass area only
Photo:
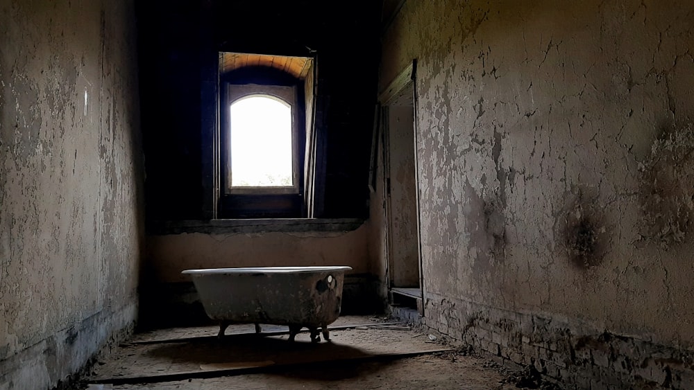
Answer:
M291 107L267 96L231 105L231 186L291 187Z

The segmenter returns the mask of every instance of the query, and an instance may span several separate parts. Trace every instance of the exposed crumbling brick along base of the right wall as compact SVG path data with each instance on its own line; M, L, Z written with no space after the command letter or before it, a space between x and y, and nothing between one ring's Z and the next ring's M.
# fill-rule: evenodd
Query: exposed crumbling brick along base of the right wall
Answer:
M473 311L471 303L444 301L439 305L431 301L428 307L429 318L423 319L426 326L460 335L463 342L496 362L534 364L545 378L561 382L562 389L640 389L662 386L666 378L672 388L694 389L694 371L678 363L694 360L691 351L620 335L605 336L603 330L573 328L529 314L489 308ZM666 366L672 371L670 377Z

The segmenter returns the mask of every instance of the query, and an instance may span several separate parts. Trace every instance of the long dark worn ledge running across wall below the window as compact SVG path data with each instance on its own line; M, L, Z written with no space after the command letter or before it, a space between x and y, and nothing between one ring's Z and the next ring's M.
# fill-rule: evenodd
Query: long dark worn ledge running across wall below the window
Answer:
M364 224L362 218L265 218L230 220L188 220L154 222L148 229L152 236L181 233L305 233L353 231Z

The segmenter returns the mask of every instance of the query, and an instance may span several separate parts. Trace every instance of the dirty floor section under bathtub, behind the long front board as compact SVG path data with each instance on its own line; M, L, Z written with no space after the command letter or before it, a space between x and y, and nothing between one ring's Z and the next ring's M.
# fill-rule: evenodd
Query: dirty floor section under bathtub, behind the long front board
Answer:
M395 329L403 328L406 327ZM450 350L413 339L409 332L393 332L375 324L333 327L331 342L320 344L312 343L306 333L297 335L296 342L289 342L284 331L258 334L255 330L230 330L224 337L157 335L133 340L119 348L111 360L94 367L90 382L125 384L212 378L325 362L395 360Z

